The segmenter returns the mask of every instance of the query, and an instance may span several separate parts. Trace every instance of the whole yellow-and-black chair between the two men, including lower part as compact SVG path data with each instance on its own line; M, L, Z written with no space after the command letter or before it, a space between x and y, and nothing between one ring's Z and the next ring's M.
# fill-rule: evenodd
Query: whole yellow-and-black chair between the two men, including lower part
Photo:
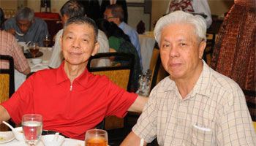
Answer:
M91 61L99 58L118 58L118 60L122 60L122 64L119 66L91 67ZM135 56L132 53L97 53L96 55L91 56L89 59L87 69L93 74L107 76L111 82L115 83L126 91L130 91L129 82L131 80L131 72L133 71L134 61ZM123 64L124 62L126 63ZM102 122L99 123L96 128L108 130L108 133L110 134L109 145L114 145L115 142L121 141L124 139L124 137L126 137L126 133L123 130L124 127L126 127L126 119L127 116L125 118L109 116L102 120ZM116 134L116 132L118 132L118 134Z

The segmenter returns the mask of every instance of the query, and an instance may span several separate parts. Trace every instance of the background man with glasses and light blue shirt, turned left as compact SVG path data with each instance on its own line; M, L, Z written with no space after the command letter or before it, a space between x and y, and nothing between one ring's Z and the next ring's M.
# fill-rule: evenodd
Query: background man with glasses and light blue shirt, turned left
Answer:
M116 23L116 25L124 31L124 34L129 36L129 39L131 40L132 45L135 46L140 58L140 70L143 70L138 33L134 28L128 26L127 23L124 23L124 10L122 7L118 4L108 5L104 12L104 18L105 20L108 20L108 22Z

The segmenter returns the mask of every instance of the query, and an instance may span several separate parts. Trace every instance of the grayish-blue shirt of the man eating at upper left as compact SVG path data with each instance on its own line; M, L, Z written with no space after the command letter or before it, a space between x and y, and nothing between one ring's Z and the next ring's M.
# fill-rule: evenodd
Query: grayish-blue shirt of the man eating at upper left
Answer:
M23 34L23 32L20 31L15 18L7 19L4 22L4 31L7 31L8 29L15 29L18 33ZM45 20L34 18L34 23L31 24L29 30L26 31L24 36L18 36L17 34L14 36L18 39L18 42L38 42L39 46L42 47L44 46L43 37L46 34L48 34L48 27Z

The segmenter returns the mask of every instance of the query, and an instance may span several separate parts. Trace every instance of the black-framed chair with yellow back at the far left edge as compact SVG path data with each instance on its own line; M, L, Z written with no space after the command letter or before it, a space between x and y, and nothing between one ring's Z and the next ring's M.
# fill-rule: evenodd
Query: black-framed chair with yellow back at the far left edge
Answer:
M9 61L10 65L9 69L0 69L0 103L9 99L15 91L13 58L10 55L0 55L1 61ZM8 127L1 124L0 131L8 131Z

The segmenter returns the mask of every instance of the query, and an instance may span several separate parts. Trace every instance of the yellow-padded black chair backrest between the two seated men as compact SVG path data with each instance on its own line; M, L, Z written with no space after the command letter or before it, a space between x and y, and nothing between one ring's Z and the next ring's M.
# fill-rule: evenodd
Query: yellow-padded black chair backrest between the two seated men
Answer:
M115 57L127 61L127 64L121 64L121 66L102 66L102 67L90 67L91 60L97 58ZM105 75L113 83L118 85L124 90L129 91L129 82L134 64L134 55L132 53L97 53L97 55L91 56L87 69L93 74ZM124 127L124 119L110 116L105 118L103 122L104 129L122 128ZM104 124L105 122L105 124ZM102 123L99 123L97 128L102 128Z

